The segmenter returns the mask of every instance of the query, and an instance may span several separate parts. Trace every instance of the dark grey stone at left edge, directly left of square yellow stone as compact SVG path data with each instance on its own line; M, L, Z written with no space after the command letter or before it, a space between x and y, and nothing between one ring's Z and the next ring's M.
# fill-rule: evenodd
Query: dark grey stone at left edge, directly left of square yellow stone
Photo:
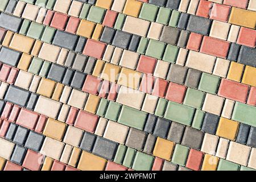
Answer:
M15 67L18 64L21 53L13 49L2 47L0 51L0 61Z

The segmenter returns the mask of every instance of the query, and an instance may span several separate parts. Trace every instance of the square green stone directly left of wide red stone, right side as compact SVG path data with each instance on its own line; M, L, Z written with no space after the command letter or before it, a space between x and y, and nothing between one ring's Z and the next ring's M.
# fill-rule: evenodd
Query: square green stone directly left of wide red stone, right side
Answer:
M216 94L219 83L220 83L220 77L215 75L210 75L208 73L203 73L201 76L198 89L204 92Z

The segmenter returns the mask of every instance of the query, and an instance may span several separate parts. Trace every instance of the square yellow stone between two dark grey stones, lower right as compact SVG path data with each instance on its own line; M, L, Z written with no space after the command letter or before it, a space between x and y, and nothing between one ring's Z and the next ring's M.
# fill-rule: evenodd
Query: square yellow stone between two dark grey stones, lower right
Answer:
M220 118L216 135L229 140L236 139L239 123L226 118Z

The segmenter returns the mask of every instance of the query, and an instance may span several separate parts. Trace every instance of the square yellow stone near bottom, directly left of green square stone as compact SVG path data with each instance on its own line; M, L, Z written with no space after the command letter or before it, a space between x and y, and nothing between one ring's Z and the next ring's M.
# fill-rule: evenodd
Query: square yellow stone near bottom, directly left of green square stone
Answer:
M153 155L162 159L171 160L174 142L163 138L156 139Z

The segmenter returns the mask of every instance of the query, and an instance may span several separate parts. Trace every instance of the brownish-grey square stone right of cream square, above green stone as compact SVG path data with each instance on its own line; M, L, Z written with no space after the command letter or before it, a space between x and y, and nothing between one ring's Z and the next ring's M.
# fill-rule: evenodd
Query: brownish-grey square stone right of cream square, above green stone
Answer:
M179 35L180 35L179 29L174 27L164 26L162 35L160 36L160 41L175 46L179 39Z

